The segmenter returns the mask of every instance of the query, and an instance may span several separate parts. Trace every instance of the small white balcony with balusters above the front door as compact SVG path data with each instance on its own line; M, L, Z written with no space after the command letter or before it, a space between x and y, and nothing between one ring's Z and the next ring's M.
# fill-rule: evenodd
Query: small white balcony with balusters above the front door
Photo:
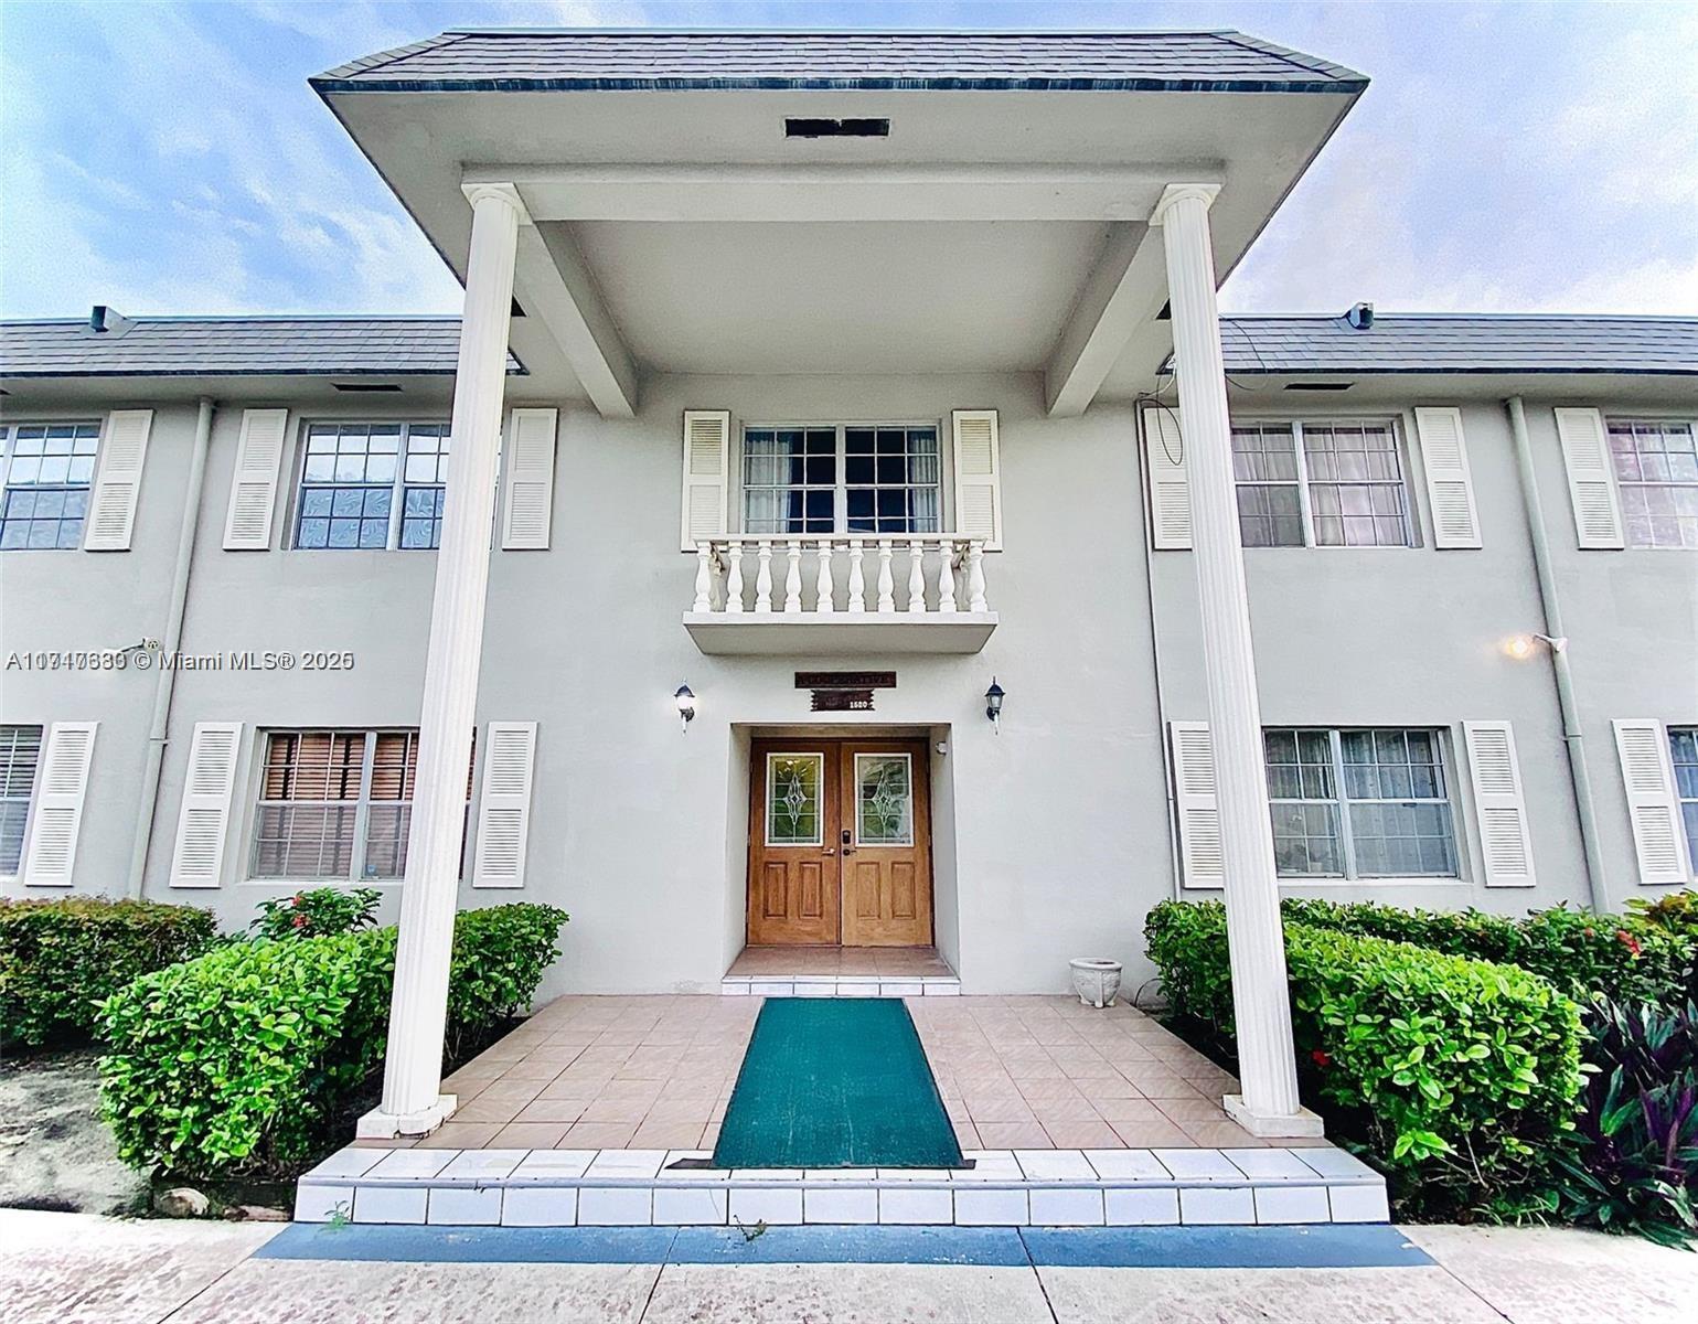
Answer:
M976 654L997 628L985 545L949 533L696 543L684 628L705 654Z

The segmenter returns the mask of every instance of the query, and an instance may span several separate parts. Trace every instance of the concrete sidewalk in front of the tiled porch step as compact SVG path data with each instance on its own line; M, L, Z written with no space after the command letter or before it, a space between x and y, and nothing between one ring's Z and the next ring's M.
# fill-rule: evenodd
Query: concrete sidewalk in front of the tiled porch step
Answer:
M384 1256L355 1229L306 1243L277 1226L119 1222L0 1210L0 1319L7 1324L531 1324L540 1321L810 1321L812 1324L1136 1324L1161 1321L1408 1321L1409 1324L1674 1324L1693 1317L1698 1254L1555 1229L1408 1227L1413 1248L1353 1268L1114 1268L987 1263L511 1261L477 1237L438 1236L441 1259ZM571 1229L564 1229L571 1231ZM637 1229L659 1239L659 1229ZM788 1229L800 1236L807 1229ZM825 1231L825 1229L815 1229ZM1100 1231L1100 1229L1095 1229ZM1204 1229L1195 1229L1204 1234ZM1251 1229L1255 1231L1255 1229ZM272 1251L267 1244L285 1236ZM424 1234L424 1229L419 1229ZM496 1234L496 1241L481 1241ZM1051 1254L1068 1259L1066 1232ZM287 1256L282 1249L294 1243ZM424 1244L424 1254L431 1243ZM547 1243L530 1243L547 1244ZM606 1246L616 1248L610 1241ZM759 1244L759 1243L752 1243ZM798 1243L800 1244L800 1243ZM1077 1244L1088 1244L1080 1236ZM1100 1244L1100 1243L1099 1243ZM1187 1243L1168 1243L1184 1246ZM1199 1243L1200 1244L1200 1243ZM319 1246L331 1246L318 1254ZM363 1251L358 1248L363 1246ZM375 1248L375 1249L374 1249ZM1414 1248L1431 1256L1423 1263ZM767 1246L767 1251L776 1249ZM941 1258L941 1256L939 1256ZM1185 1258L1185 1256L1177 1256ZM995 1256L990 1256L995 1259Z

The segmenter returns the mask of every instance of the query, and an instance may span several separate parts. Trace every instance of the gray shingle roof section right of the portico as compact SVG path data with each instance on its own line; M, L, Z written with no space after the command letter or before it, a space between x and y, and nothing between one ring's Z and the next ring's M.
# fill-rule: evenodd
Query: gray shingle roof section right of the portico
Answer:
M1384 314L1226 317L1228 372L1272 373L1676 373L1698 375L1698 317Z

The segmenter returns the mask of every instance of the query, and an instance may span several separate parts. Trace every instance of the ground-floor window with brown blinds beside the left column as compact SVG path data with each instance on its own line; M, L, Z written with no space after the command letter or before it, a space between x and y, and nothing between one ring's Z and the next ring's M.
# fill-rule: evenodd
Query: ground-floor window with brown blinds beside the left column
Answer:
M255 878L401 878L418 732L272 732L253 833ZM467 801L472 781L467 774Z

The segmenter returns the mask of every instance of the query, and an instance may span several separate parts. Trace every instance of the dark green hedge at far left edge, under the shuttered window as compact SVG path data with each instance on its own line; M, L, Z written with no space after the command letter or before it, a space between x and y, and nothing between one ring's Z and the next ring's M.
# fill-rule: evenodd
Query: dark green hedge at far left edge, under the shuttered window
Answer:
M131 979L199 956L217 940L207 910L66 896L0 901L0 1041L80 1041L98 1003Z

